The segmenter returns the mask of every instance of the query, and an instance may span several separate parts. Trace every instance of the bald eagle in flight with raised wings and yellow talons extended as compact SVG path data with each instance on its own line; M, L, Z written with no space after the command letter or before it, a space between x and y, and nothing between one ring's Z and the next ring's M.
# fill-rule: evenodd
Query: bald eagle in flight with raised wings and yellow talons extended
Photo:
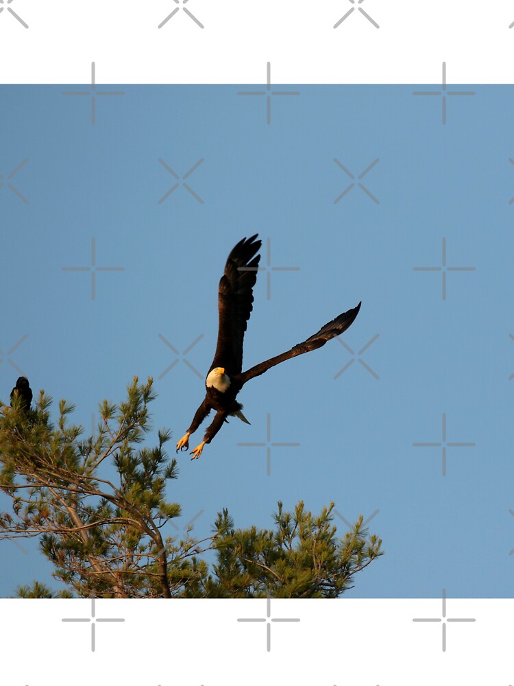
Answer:
M343 312L339 317L325 324L303 343L243 372L243 338L254 302L252 289L257 280L260 255L256 255L256 252L260 246L261 241L257 240L257 234L239 241L228 256L225 273L219 282L218 342L215 357L206 378L206 397L196 411L191 426L177 443L177 452L179 449L188 449L189 436L194 434L210 410L216 410L216 416L206 430L204 440L191 452L193 456L191 460L201 456L204 445L210 443L216 436L228 416L236 416L249 424L241 411L243 405L236 401L238 392L247 381L264 374L269 368L290 357L321 348L328 340L346 331L360 309L359 303L357 307Z

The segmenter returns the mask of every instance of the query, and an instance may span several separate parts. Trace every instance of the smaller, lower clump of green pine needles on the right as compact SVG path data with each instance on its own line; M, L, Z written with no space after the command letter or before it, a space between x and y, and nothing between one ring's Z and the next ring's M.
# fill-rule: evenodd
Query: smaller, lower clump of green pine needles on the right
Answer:
M332 510L318 517L299 501L294 512L278 503L273 530L234 529L227 510L218 514L217 564L205 584L212 598L338 598L354 574L382 555L382 541L367 538L363 517L336 538Z

